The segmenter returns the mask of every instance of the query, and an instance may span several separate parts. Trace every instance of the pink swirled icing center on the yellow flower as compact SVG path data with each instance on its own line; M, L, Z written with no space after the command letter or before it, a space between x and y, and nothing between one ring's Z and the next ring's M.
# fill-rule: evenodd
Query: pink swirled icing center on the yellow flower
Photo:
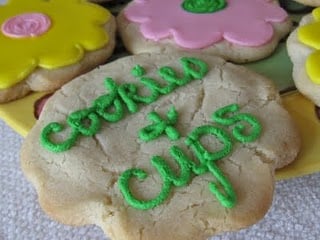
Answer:
M43 13L24 13L7 19L1 25L2 33L12 38L36 37L51 26L50 18Z

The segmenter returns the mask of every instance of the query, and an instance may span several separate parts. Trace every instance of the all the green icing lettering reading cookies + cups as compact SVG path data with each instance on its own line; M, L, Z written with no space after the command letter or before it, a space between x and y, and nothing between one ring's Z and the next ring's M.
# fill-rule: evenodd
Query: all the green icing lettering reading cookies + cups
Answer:
M177 73L168 66L159 68L158 75L166 82L165 85L145 76L146 71L142 66L136 65L132 69L131 74L139 78L140 83L149 90L149 96L139 95L139 88L134 83L117 85L112 78L106 78L104 85L107 94L95 99L91 107L75 111L67 117L67 125L71 128L68 138L64 141L53 140L55 138L52 135L64 131L65 127L60 123L51 122L41 132L42 146L52 152L66 151L76 143L79 136L95 135L101 128L101 120L109 123L118 122L124 118L125 107L129 113L136 113L139 110L139 104L150 104L161 95L171 93L177 87L202 79L208 72L207 64L196 58L181 58L180 64L182 73ZM237 104L225 106L212 114L212 120L222 127L233 126L232 136L239 142L246 143L256 140L262 130L259 121L248 113L237 113L238 111ZM139 137L144 141L150 141L166 134L170 140L179 139L180 134L174 127L177 117L178 113L174 107L167 112L166 119L162 119L156 112L151 112L148 118L152 123L139 132ZM216 138L222 144L221 149L214 152L206 149L201 143L201 138L204 136ZM173 187L186 186L192 175L205 173L211 173L215 178L215 181L209 183L208 187L217 200L226 208L232 208L235 205L234 189L216 164L218 160L223 159L232 151L233 143L228 133L221 127L204 125L191 131L186 136L184 143L194 153L198 163L192 161L177 146L172 146L169 153L179 166L179 174L176 174L161 156L152 157L151 165L162 179L161 190L154 199L137 199L130 190L129 182L132 178L143 181L148 177L144 170L132 168L121 174L118 180L120 191L129 205L144 210L154 208L166 201Z

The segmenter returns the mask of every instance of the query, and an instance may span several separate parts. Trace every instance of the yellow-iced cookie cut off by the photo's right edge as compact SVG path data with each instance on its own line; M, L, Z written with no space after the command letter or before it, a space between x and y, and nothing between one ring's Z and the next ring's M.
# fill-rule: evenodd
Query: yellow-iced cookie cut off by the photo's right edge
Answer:
M301 19L287 41L293 62L293 80L297 89L320 106L320 8Z

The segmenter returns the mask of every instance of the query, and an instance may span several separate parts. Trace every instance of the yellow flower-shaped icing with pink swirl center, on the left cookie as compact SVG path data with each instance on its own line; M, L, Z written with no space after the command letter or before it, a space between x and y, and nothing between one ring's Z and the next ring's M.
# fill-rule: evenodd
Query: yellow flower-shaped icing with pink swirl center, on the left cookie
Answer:
M37 67L56 69L105 46L110 13L80 0L8 0L0 5L0 90Z

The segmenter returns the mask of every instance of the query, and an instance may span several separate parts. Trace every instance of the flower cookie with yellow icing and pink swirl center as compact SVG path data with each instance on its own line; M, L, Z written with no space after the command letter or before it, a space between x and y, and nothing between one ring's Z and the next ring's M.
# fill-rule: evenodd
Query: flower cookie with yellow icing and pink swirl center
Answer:
M115 40L113 16L79 0L0 5L0 103L53 91L102 64Z

